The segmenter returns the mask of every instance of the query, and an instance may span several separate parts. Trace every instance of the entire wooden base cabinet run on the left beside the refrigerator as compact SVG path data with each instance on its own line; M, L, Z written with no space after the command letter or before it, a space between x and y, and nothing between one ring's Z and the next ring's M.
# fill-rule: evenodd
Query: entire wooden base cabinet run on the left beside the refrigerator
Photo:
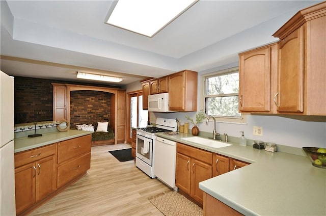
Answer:
M16 153L16 214L28 214L86 175L90 163L91 134Z

